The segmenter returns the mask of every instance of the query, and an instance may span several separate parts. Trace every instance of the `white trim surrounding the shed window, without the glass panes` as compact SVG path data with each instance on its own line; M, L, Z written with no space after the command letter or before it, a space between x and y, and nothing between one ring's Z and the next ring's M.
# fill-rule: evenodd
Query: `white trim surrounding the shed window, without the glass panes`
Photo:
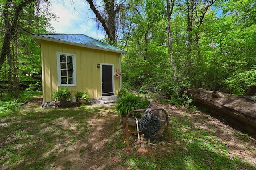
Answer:
M61 84L60 55L73 56L73 69L74 69L73 84ZM76 55L75 54L61 53L57 51L57 74L58 74L58 86L76 86Z

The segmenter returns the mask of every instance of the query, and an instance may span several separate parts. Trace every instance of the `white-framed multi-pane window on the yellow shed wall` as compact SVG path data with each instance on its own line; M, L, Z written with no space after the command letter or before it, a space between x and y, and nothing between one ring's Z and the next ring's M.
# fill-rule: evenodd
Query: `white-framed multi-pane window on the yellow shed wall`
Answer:
M58 86L76 86L76 55L57 52Z

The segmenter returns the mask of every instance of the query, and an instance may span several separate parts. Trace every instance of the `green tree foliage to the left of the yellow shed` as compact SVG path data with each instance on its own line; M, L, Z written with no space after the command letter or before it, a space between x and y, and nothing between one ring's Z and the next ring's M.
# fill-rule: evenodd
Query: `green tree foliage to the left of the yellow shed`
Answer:
M16 99L19 97L20 90L24 90L19 89L19 84L27 86L30 82L37 81L34 75L40 75L42 70L41 49L30 37L30 33L46 33L54 30L50 21L56 16L48 10L50 3L44 2L46 4L43 8L38 8L40 2L35 0L14 0L12 7L8 5L10 2L1 1L0 3L2 7L0 45L2 52L10 52L10 55L1 56L0 80L7 83L1 88L13 92L9 94ZM4 44L4 42L7 43ZM42 87L40 84L35 84L28 90L42 90Z

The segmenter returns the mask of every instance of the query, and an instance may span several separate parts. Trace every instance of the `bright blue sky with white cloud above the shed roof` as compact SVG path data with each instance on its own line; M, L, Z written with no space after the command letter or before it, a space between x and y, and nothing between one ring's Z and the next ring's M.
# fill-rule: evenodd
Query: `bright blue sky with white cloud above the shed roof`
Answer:
M74 2L74 4L73 4ZM95 15L85 0L52 0L52 12L59 18L51 21L55 33L84 34L94 39L103 39L104 32L97 31ZM75 10L74 10L75 9Z

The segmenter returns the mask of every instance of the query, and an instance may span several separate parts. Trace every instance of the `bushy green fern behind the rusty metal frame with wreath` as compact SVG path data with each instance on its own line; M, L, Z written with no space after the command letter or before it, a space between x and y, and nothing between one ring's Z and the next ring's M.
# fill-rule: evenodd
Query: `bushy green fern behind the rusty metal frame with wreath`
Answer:
M145 101L143 102L143 104L145 105ZM145 109L145 107L142 107L144 107L142 106L142 99L135 94L129 93L126 96L118 98L115 109L120 117L125 117L132 110ZM139 114L140 113L133 112L132 116L136 117Z

